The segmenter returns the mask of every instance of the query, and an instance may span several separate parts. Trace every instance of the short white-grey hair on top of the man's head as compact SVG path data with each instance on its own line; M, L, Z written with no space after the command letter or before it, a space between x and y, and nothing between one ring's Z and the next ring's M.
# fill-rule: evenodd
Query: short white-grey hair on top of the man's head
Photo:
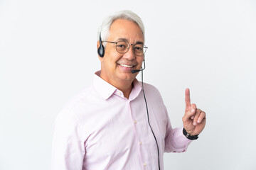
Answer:
M98 34L97 34L98 40L100 40L100 35L101 35L102 41L107 40L110 33L110 26L117 19L124 19L127 21L132 21L134 23L137 23L139 28L142 30L142 35L143 35L143 38L145 39L145 36L144 36L145 29L142 23L142 19L139 18L139 16L136 13L129 10L125 10L125 11L119 11L117 13L114 13L112 16L108 16L107 18L105 18L105 20L102 22L102 25L98 30Z

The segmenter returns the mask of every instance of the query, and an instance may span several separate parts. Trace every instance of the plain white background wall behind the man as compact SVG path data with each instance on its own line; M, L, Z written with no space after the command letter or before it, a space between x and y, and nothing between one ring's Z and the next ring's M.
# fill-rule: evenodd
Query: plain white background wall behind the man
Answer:
M50 169L55 116L92 82L97 28L123 9L144 21L144 81L173 127L186 87L207 113L186 153L164 154L165 169L256 169L256 1L242 0L0 0L0 169Z

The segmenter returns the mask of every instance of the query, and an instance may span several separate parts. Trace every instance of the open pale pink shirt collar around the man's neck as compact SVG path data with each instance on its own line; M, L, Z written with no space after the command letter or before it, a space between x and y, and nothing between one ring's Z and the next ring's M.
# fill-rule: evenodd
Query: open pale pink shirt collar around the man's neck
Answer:
M137 79L134 79L133 85L134 86L132 88L131 94L129 95L130 101L134 100L134 98L137 98L137 96L139 96L140 91L142 90L142 85L139 83ZM98 92L98 94L100 94L100 96L102 96L104 100L107 100L107 98L110 98L112 94L116 94L117 91L119 91L116 87L112 86L100 77L100 71L95 72L93 86L95 90Z

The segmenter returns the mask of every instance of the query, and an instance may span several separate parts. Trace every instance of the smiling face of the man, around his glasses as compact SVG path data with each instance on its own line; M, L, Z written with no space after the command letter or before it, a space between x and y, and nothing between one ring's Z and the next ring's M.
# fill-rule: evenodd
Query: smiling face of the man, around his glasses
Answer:
M107 41L126 41L129 44L142 42L144 38L139 26L132 22L118 19L110 27L110 35ZM105 40L103 40L105 41ZM101 61L100 77L108 83L118 86L131 83L138 73L132 74L132 69L141 69L144 56L134 55L133 46L129 51L121 54L116 50L116 44L106 43L104 57L99 57Z

